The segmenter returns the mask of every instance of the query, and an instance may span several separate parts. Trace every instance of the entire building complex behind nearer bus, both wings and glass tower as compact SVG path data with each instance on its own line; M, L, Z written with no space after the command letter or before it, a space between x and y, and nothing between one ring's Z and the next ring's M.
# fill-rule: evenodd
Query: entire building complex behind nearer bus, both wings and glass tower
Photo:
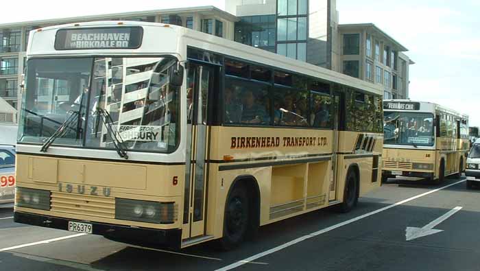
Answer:
M0 25L0 97L21 103L29 31L49 25L124 20L181 25L375 84L385 98L409 97L407 49L371 23L339 25L336 0L226 0L213 6L149 10Z

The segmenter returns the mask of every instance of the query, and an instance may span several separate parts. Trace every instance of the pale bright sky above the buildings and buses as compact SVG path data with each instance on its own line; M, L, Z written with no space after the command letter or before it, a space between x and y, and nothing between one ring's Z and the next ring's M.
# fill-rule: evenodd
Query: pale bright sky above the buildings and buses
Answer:
M75 1L74 1L75 2ZM24 1L21 12L2 12L0 23L71 16L215 5L224 0ZM3 10L19 10L15 1ZM337 0L339 23L374 23L409 49L411 99L442 104L480 126L480 0ZM477 111L478 110L478 111Z

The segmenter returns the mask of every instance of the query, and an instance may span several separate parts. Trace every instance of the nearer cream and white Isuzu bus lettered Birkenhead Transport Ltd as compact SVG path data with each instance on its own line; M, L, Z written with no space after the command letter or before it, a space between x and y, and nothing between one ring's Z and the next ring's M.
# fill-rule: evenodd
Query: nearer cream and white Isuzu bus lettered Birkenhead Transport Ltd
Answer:
M160 23L30 37L16 222L232 248L380 185L378 86Z

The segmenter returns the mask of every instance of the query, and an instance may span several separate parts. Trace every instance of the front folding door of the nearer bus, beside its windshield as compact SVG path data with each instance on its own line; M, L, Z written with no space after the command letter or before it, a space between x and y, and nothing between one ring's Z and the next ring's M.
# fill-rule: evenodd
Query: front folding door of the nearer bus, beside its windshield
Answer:
M205 234L208 93L215 67L189 62L187 69L187 152L182 239Z

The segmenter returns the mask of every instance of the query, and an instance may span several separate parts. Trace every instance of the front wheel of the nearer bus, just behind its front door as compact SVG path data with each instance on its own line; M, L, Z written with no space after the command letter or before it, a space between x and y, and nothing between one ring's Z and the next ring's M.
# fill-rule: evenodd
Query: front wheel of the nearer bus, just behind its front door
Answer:
M245 238L250 223L250 206L247 192L242 185L236 185L226 201L224 216L224 237L220 239L223 250L239 246Z

